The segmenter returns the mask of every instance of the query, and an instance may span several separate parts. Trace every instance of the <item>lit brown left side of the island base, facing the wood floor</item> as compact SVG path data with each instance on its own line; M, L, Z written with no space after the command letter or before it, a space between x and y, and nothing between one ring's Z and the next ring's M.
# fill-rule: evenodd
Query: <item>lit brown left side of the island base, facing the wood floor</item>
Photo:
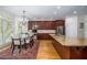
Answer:
M69 59L69 47L63 46L56 41L53 41L53 45L63 59Z

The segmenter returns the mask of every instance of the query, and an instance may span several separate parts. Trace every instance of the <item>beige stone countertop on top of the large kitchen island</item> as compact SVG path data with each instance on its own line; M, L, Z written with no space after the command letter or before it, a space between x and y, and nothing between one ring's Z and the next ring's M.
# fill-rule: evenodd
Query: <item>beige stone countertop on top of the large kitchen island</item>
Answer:
M87 40L66 39L64 35L55 35L55 34L50 34L50 35L65 46L87 46Z

